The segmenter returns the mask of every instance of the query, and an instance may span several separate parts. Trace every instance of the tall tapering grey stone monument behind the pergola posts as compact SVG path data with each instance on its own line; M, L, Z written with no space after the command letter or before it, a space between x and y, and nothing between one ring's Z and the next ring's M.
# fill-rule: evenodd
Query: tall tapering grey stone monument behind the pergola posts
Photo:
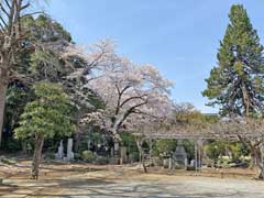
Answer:
M175 155L175 165L178 168L185 168L186 167L186 160L187 160L187 153L184 147L183 140L178 140L177 147L174 153Z

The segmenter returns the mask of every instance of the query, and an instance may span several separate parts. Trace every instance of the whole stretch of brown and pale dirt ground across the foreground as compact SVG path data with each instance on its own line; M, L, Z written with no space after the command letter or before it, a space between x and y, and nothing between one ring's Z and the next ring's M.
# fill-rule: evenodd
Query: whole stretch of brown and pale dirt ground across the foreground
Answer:
M28 161L0 168L6 177L0 186L3 198L264 197L264 182L252 179L254 173L246 169L194 173L151 168L144 174L138 166L46 163L35 182L29 179Z

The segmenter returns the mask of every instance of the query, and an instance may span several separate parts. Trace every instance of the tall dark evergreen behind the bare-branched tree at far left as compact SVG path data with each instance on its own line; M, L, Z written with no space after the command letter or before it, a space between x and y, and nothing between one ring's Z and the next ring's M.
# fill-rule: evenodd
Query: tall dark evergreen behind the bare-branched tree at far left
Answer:
M18 145L18 140L12 139L13 130L18 127L20 114L25 105L32 100L32 85L40 80L53 82L63 81L63 77L70 74L65 64L59 61L57 52L48 51L46 45L59 46L61 43L70 43L70 34L63 26L45 14L37 18L26 15L22 19L21 25L26 30L26 35L21 41L21 48L15 56L15 75L9 80L4 122L2 130L1 148L8 150L10 145ZM25 141L22 141L24 145Z

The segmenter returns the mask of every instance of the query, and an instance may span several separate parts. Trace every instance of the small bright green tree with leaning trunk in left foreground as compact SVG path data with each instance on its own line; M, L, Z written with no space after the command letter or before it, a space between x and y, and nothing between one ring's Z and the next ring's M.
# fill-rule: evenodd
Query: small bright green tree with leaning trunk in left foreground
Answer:
M34 85L35 100L25 106L20 117L20 127L14 130L20 139L34 138L32 178L38 177L38 165L45 139L54 135L70 135L69 98L59 85L37 82Z

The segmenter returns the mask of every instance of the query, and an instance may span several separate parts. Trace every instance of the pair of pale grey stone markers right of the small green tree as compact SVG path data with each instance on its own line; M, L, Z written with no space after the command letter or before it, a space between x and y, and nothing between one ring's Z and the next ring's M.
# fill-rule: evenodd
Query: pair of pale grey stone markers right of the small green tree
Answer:
M59 143L59 146L58 146L58 151L55 154L55 158L59 160L59 161L74 161L73 144L74 144L74 140L73 139L68 139L67 154L65 156L63 140L62 140L61 143Z

